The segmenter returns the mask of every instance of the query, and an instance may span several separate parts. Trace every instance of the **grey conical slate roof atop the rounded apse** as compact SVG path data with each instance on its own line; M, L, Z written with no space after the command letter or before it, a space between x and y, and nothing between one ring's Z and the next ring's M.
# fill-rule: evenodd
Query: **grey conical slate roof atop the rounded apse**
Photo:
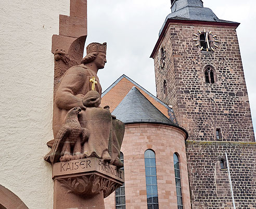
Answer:
M123 123L173 124L136 87L123 98L112 115Z

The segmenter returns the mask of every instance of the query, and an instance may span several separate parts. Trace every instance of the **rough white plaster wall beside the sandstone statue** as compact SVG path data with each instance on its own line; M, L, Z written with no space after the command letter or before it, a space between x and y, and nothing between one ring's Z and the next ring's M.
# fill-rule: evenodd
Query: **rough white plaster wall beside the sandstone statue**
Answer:
M52 35L69 0L2 0L0 5L0 185L30 209L53 208Z

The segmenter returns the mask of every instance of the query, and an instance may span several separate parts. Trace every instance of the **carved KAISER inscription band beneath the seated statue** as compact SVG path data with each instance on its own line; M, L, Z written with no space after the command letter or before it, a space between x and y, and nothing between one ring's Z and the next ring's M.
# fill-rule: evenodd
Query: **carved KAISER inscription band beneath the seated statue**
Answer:
M53 164L53 178L56 176L94 171L124 182L123 170L98 158L87 158Z

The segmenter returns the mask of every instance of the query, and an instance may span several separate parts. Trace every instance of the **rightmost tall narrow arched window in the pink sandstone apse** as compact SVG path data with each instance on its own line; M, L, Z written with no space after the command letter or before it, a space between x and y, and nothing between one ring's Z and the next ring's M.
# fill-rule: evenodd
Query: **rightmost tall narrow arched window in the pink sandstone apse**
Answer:
M175 184L176 184L176 193L177 193L177 205L178 205L178 209L183 209L181 173L180 173L180 165L178 162L178 155L176 153L173 154L173 160L174 160L174 173L175 173Z

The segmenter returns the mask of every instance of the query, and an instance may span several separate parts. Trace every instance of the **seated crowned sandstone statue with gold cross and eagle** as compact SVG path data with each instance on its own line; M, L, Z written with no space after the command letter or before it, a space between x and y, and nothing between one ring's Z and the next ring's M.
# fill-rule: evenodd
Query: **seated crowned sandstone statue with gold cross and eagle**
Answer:
M106 50L106 43L89 44L86 47L87 55L81 64L69 68L62 75L54 98L55 140L50 146L53 146L53 150L45 156L46 161L55 163L59 160L96 157L117 167L123 166L120 161L120 148L124 124L111 115L108 107L99 107L101 86L97 72L107 62ZM81 128L76 128L77 133L73 132L73 135L77 135L76 139L73 135L63 139L63 132L70 132L67 123L74 108L81 110L76 114ZM78 126L77 122L74 124Z

